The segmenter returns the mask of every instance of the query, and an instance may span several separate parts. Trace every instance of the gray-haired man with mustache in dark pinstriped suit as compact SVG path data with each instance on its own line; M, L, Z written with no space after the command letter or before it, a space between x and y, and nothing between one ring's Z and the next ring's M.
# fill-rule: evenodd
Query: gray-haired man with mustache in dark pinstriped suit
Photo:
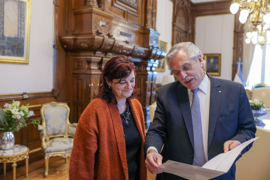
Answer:
M179 81L158 89L155 116L144 143L145 162L156 179L184 179L158 166L172 160L201 167L254 138L256 126L244 86L205 73L203 55L193 43L174 45L166 61ZM235 169L234 163L214 179L235 179Z

